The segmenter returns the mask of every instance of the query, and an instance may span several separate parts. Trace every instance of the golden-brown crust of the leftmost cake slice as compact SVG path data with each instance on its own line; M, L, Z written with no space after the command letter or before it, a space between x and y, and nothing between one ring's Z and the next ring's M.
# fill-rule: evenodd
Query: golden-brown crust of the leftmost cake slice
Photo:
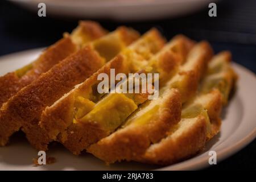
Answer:
M48 71L53 65L59 63L76 50L76 45L72 43L70 38L63 38L48 47L32 63L32 69L22 77L19 78L15 72L7 73L5 76L0 77L0 106L24 86L30 84L42 73Z

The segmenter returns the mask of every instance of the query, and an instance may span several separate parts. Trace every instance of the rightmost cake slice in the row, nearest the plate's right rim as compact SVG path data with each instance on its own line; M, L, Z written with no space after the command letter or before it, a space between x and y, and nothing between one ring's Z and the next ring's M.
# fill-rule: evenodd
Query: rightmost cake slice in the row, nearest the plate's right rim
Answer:
M229 52L214 56L209 63L208 74L200 84L199 93L191 102L183 105L181 121L170 129L166 138L151 144L136 159L138 162L170 165L203 150L205 142L220 131L221 106L226 104L230 88L236 84L237 75L229 61ZM209 84L214 75L218 75L218 81L214 80Z

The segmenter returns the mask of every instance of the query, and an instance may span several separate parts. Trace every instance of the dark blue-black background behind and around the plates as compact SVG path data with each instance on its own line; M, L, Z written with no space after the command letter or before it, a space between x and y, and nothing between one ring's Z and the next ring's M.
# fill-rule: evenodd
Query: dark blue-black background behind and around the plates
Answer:
M7 1L0 1L0 55L30 48L46 47L71 32L78 19L39 18ZM141 33L157 27L167 39L185 34L192 39L207 39L218 52L228 49L233 60L256 72L256 1L225 0L217 3L217 17L208 16L208 8L175 19L125 23L98 20L108 30L119 25L135 28ZM256 122L256 121L255 121ZM256 169L256 140L236 155L208 169Z

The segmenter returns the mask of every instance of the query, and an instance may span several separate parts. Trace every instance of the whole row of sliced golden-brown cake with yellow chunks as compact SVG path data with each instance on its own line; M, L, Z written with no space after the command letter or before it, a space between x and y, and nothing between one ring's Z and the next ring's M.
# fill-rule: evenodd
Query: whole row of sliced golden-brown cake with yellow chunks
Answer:
M37 150L57 141L106 163L170 165L203 150L220 131L222 106L236 86L231 53L213 55L208 42L183 35L166 44L155 28L141 38L127 27L106 32L82 21L36 61L0 77L1 146L21 129ZM98 76L113 69L125 76L159 74L147 83L159 84L158 98L142 90L99 93Z

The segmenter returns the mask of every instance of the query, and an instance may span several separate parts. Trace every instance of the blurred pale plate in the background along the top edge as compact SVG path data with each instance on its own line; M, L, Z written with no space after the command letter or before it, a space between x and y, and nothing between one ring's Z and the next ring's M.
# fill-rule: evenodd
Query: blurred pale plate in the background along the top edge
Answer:
M178 16L207 8L213 0L9 0L38 11L38 3L46 3L47 15L78 18L110 18L145 20ZM36 13L37 14L37 13ZM207 14L205 15L207 16Z

